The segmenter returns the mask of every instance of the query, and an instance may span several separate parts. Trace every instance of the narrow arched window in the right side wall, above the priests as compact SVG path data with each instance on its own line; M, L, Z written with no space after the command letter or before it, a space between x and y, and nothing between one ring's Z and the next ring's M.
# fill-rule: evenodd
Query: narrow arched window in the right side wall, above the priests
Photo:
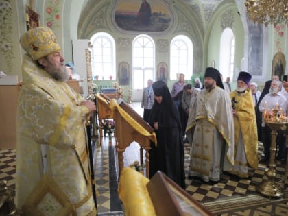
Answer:
M220 64L219 70L224 81L227 77L232 80L234 74L235 38L232 29L226 28L221 34L220 40Z

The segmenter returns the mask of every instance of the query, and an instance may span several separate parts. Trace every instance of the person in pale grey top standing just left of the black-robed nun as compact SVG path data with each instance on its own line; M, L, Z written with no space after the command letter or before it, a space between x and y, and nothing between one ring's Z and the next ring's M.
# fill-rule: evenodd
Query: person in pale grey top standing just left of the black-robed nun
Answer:
M147 87L143 89L141 108L144 108L143 119L148 121L150 111L154 104L154 93L152 88L153 80L149 79L147 81Z

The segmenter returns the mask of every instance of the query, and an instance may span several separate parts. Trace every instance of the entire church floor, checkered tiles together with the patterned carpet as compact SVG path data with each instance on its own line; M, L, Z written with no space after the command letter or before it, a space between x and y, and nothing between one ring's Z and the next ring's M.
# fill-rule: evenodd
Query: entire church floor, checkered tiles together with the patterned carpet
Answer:
M95 165L95 180L97 184L97 208L99 213L109 211L121 211L121 202L117 195L118 167L117 152L115 152L115 140L109 141L108 137L104 138L102 147L97 143L93 143L93 156ZM185 171L189 171L189 145L185 147ZM131 143L124 152L124 166L128 166L139 160L139 145ZM261 155L261 145L259 145L259 155ZM16 150L0 150L0 180L6 180L8 186L15 188L15 168L16 168ZM206 184L199 179L186 179L186 191L196 200L211 209L215 215L288 215L288 182L285 184L285 165L276 164L275 180L280 182L281 187L285 191L285 197L280 199L266 198L256 191L263 178L267 178L264 173L266 166L259 164L259 169L250 171L249 178L237 178L229 173L223 173L221 180L217 184ZM238 199L241 199L238 200ZM286 200L285 200L286 199ZM261 202L259 208L247 208L245 204L244 210L235 213L227 213L227 204L235 200L235 206L241 206L244 202ZM258 201L257 201L258 200ZM260 200L260 201L259 201ZM276 206L269 205L270 202L276 203ZM267 207L263 207L263 203ZM233 204L231 204L233 205ZM261 206L262 205L262 206Z

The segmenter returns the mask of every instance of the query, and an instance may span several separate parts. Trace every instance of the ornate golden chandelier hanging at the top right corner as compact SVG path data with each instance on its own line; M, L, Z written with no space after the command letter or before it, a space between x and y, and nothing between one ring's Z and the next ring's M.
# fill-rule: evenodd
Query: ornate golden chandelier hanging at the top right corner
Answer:
M247 14L254 23L288 23L288 0L246 0Z

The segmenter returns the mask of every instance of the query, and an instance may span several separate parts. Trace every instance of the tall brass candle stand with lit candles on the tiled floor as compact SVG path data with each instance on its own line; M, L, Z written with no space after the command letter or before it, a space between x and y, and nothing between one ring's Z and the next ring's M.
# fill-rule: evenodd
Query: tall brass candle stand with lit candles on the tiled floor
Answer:
M276 176L276 164L275 164L275 152L276 152L276 136L277 136L277 130L284 130L287 124L286 117L280 115L278 117L278 109L272 109L272 115L269 117L269 113L266 116L263 116L263 119L265 123L269 126L269 128L272 130L271 132L271 145L270 145L270 160L269 160L269 169L265 172L265 175L267 176L267 180L263 180L261 184L257 187L257 191L261 193L262 195L265 195L267 197L283 197L283 189L280 187L278 182L274 181L274 178Z

